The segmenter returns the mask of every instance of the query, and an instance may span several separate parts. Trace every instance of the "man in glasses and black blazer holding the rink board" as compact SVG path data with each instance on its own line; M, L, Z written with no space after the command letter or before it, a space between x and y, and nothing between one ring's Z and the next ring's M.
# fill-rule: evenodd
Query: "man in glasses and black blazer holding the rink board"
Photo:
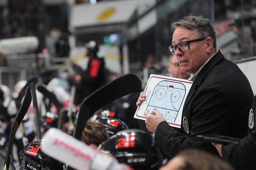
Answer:
M145 111L146 127L169 157L187 148L206 150L218 155L210 142L202 143L198 134L220 134L243 138L253 101L248 79L233 62L216 49L216 33L211 20L185 16L173 22L169 50L179 61L182 72L192 74L191 89L182 111L181 131L169 126L158 110ZM136 103L145 101L142 92ZM151 112L151 110L150 110Z

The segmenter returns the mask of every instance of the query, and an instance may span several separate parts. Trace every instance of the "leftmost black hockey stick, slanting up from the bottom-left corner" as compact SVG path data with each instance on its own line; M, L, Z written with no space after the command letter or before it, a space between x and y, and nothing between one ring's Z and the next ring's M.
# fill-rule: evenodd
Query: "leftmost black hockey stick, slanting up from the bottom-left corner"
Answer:
M18 111L18 114L14 118L13 124L11 126L9 143L7 146L7 152L6 152L5 161L4 161L4 170L9 169L10 162L11 162L11 152L12 152L15 134L16 134L16 131L17 131L19 125L21 124L22 119L24 118L24 116L26 115L26 112L28 111L31 100L32 100L31 92L30 92L29 87L27 87L21 107Z

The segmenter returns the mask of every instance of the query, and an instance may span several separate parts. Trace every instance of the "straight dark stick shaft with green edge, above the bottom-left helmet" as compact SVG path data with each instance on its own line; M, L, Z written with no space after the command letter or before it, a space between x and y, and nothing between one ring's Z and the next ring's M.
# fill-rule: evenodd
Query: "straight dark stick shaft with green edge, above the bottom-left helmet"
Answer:
M29 85L31 92L32 92L32 99L33 99L33 107L34 107L34 115L35 115L35 133L38 140L42 139L42 133L40 128L40 115L38 114L38 105L35 93L35 83L30 83Z

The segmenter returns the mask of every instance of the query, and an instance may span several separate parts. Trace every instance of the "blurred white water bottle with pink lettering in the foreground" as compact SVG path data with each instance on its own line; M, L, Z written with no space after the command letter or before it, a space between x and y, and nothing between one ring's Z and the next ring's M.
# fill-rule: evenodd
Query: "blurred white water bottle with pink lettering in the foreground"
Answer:
M51 128L45 133L40 149L62 163L68 162L68 166L78 170L133 170L56 128Z

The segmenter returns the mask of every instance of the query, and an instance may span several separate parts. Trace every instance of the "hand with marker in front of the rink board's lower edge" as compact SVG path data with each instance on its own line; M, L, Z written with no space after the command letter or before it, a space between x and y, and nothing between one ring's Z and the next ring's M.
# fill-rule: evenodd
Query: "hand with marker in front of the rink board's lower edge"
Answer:
M157 126L163 122L166 121L163 115L158 110L152 110L152 112L155 115L151 115L148 110L144 112L144 115L146 117L146 127L148 131L155 133Z

